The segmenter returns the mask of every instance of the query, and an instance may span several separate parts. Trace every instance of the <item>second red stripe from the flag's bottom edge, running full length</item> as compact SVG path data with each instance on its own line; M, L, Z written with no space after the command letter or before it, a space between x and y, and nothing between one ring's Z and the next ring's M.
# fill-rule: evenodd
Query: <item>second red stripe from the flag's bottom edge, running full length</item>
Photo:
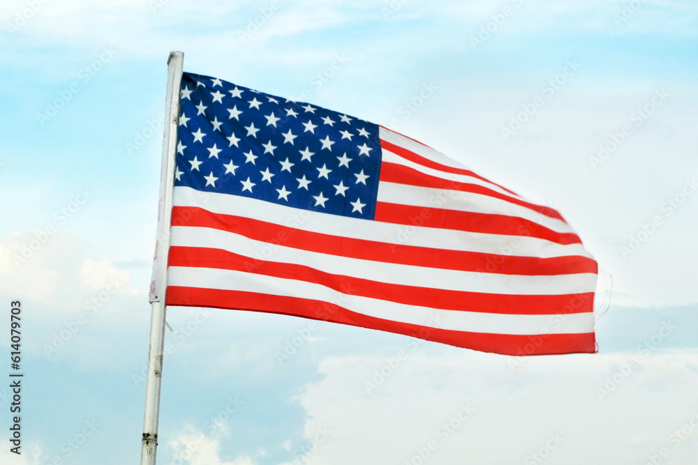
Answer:
M313 282L342 294L405 305L498 314L560 314L593 312L594 293L559 296L519 296L449 291L389 284L334 275L310 266L264 261L208 247L170 247L169 266L237 270L287 280Z

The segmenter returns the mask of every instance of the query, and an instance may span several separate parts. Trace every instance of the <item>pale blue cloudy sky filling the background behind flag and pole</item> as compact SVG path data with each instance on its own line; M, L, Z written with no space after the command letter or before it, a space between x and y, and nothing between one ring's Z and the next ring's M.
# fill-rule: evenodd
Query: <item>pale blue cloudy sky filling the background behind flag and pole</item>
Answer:
M0 302L22 299L27 378L25 453L0 435L0 462L138 460L174 49L187 71L392 127L560 210L602 271L600 353L171 309L159 463L417 463L429 441L431 464L696 462L697 23L671 0L6 1Z

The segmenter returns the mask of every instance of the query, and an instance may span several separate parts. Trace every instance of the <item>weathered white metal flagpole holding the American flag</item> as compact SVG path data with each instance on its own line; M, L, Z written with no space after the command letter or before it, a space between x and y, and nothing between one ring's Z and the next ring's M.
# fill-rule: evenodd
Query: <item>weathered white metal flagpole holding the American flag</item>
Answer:
M174 188L174 156L179 119L179 86L181 84L184 53L170 52L168 58L168 93L165 98L165 137L163 140L163 172L161 199L158 205L158 246L154 266L154 297L151 298L150 348L148 375L145 384L145 416L143 422L141 465L155 465L158 448L158 420L160 418L160 388L165 346L165 290L167 289L167 257L170 250L170 215ZM159 289L158 289L159 287Z

